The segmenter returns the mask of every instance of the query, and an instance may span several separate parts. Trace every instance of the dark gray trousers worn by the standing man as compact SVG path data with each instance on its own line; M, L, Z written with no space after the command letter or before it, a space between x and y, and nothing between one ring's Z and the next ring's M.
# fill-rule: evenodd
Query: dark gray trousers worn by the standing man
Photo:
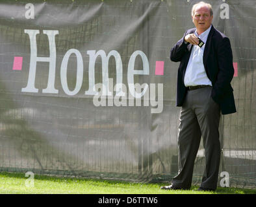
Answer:
M179 173L172 180L177 188L189 189L201 137L205 148L205 172L201 187L216 190L220 166L220 105L211 98L212 87L186 94L178 134Z

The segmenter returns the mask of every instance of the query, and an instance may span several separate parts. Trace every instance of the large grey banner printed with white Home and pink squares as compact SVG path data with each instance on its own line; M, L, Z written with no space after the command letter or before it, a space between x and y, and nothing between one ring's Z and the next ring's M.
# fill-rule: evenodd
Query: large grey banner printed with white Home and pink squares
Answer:
M0 170L172 179L180 108L170 49L194 27L197 2L1 1ZM208 2L231 40L238 110L220 123L220 184L255 187L255 1ZM194 183L204 166L201 144Z

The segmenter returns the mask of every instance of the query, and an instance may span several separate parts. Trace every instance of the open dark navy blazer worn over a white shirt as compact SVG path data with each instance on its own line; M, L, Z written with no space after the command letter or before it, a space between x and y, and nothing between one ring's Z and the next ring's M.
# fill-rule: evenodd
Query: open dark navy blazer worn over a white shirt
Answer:
M188 60L192 52L193 45L185 43L184 38L187 34L192 34L196 28L189 29L172 48L170 59L180 61L177 74L177 106L182 106L186 96L184 76ZM203 52L203 65L207 77L212 82L212 99L220 104L222 114L237 112L231 87L231 80L234 76L233 55L229 39L216 30L213 26L205 43Z

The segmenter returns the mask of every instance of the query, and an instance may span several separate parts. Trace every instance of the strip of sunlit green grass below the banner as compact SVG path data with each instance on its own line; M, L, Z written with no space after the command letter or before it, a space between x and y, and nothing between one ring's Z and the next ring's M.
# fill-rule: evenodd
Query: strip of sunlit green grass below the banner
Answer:
M1 194L255 194L256 190L218 188L214 192L160 190L163 183L134 183L112 180L75 179L34 175L34 187L26 187L25 173L0 173Z

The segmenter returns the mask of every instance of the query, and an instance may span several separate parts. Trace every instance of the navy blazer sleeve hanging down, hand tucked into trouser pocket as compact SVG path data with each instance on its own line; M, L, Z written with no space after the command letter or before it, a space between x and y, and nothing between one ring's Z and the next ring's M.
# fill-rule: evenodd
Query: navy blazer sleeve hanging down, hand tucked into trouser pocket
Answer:
M216 102L221 102L225 94L233 91L230 87L234 76L233 54L227 37L223 38L218 45L217 58L219 71L212 90L212 99Z

